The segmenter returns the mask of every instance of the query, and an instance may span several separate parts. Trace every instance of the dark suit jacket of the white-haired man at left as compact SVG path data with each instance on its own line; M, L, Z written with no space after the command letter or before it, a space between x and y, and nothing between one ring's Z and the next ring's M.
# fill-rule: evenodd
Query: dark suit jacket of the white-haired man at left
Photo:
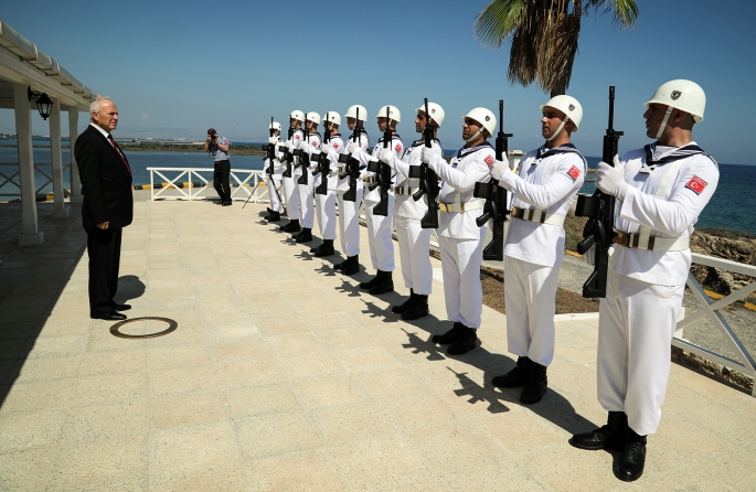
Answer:
M76 139L74 156L84 194L84 228L93 229L104 222L109 222L113 228L131 224L131 174L118 151L100 131L89 125Z

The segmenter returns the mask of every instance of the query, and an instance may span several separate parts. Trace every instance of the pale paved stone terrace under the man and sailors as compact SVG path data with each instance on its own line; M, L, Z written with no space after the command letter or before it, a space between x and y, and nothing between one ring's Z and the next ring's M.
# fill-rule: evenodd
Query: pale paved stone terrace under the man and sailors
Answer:
M398 271L398 293L361 292L372 268L334 274L264 205L139 202L118 300L179 328L124 340L88 318L78 205L49 207L39 247L0 207L0 490L756 489L756 402L677 365L639 481L567 445L605 421L596 320L557 323L550 389L525 407L490 386L513 365L504 315L485 308L482 347L449 357L428 341L451 324L440 282L406 323Z

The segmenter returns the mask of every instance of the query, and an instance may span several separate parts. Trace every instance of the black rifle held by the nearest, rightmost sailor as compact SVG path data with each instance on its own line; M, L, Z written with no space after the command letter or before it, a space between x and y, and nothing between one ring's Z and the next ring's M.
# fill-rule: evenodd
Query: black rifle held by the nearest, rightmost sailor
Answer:
M617 156L619 137L624 131L614 129L615 122L615 86L609 86L609 126L604 136L601 160L609 165ZM578 194L575 215L588 217L583 229L583 240L577 244L577 253L585 255L590 246L596 245L594 271L583 284L583 297L606 297L606 278L609 270L609 247L614 243L615 197L596 189L593 195Z

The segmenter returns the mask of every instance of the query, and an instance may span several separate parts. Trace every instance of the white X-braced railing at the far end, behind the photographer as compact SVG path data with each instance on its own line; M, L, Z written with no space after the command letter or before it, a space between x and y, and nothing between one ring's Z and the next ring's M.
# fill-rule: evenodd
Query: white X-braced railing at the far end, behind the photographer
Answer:
M152 201L157 199L205 200L204 192L213 184L212 168L147 168L147 170L150 172L150 197ZM156 177L158 183L161 184L160 188L155 185ZM232 169L228 181L232 184L232 200L269 201L268 188L265 185L264 174L260 170Z

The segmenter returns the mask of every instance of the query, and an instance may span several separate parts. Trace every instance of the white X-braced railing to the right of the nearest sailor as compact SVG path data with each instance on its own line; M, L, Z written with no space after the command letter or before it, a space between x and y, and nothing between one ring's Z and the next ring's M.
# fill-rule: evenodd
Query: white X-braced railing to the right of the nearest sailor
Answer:
M747 275L749 277L756 277L756 266L735 263L728 259L714 258L713 256L693 253L693 263L707 267L720 268L722 270L734 271L736 274ZM756 291L756 279L747 286L715 302L712 302L709 296L706 296L704 292L703 287L701 287L695 277L693 277L693 274L690 272L688 274L688 287L691 289L691 292L693 292L695 299L698 299L702 309L678 321L678 331L674 333L674 338L672 339L672 345L692 352L707 361L734 368L737 372L746 374L756 379L756 363L754 362L754 359L750 356L748 350L743 345L737 335L733 332L732 328L730 328L727 321L725 321L725 319L718 312L733 302ZM706 317L711 318L711 320L714 322L714 325L724 335L727 345L733 350L737 359L718 354L682 338L683 329L685 327ZM750 395L756 397L756 384L754 384L754 389Z

